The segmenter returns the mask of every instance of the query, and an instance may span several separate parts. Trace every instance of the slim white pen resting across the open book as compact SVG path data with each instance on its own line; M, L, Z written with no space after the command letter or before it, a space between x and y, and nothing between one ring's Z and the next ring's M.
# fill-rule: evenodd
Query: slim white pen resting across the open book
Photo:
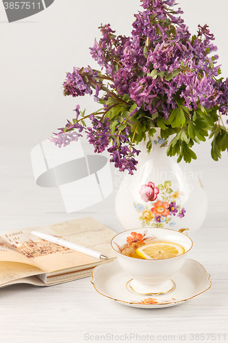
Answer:
M64 246L65 248L69 248L78 252L82 252L88 256L94 257L95 259L106 259L105 255L102 255L101 252L92 250L90 248L86 248L85 246L79 246L78 244L71 243L71 241L66 241L65 239L61 239L55 236L47 235L46 233L40 233L38 231L31 231L31 234L45 239L45 241L51 241L52 243L58 244L58 246Z

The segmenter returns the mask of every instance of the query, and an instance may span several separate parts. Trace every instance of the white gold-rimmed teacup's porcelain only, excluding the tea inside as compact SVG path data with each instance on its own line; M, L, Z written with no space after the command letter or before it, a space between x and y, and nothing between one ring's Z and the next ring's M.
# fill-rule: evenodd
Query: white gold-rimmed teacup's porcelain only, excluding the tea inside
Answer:
M125 256L121 254L120 248L127 244L127 237L131 236L132 231L141 233L144 238L156 237L162 241L179 244L184 248L184 252L166 259L135 259ZM181 269L192 245L192 239L188 237L188 228L179 231L168 228L135 228L118 233L111 241L118 263L133 278L129 281L128 287L139 294L153 295L172 292L175 289L175 284L170 278Z

